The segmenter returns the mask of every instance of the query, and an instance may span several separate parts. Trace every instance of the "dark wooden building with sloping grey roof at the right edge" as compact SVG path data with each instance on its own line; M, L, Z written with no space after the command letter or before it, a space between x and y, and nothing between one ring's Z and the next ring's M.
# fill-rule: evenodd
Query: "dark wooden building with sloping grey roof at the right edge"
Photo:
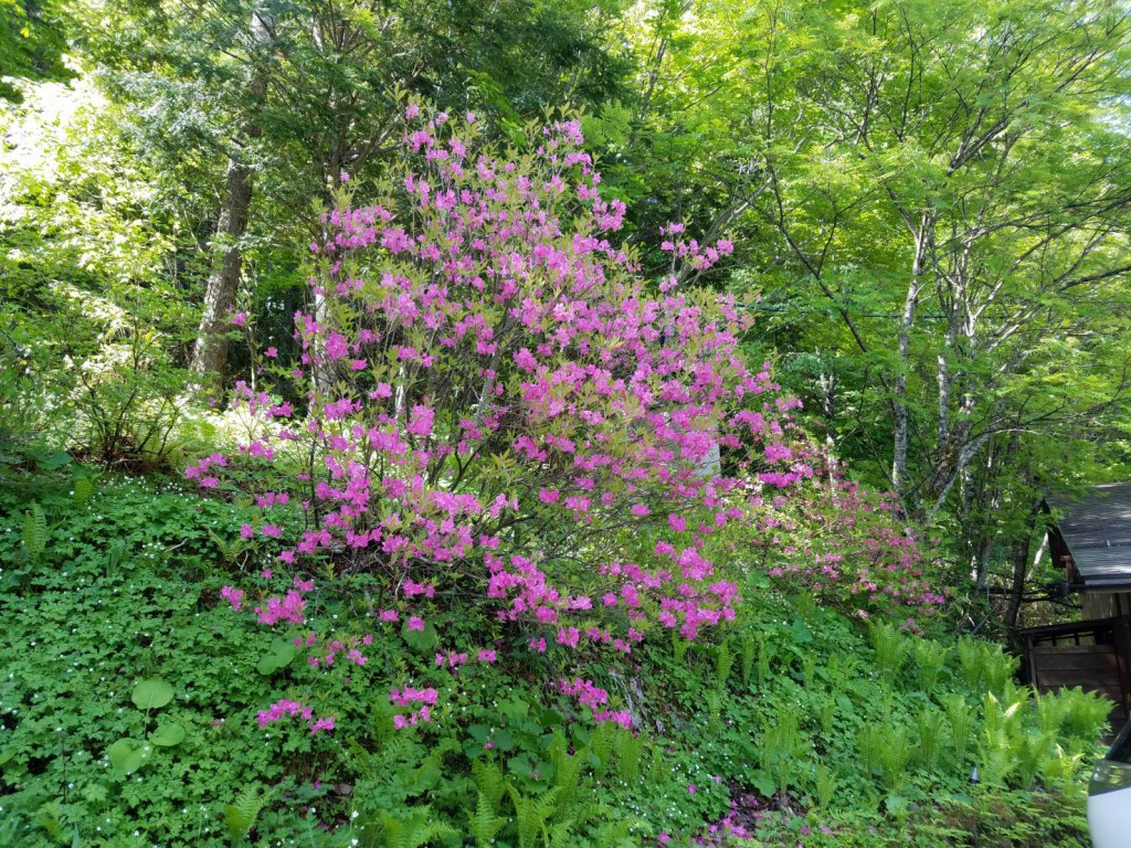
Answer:
M1064 518L1050 527L1048 550L1068 588L1080 592L1082 620L1022 630L1026 672L1043 692L1103 693L1117 732L1131 707L1131 483L1094 486L1055 505Z

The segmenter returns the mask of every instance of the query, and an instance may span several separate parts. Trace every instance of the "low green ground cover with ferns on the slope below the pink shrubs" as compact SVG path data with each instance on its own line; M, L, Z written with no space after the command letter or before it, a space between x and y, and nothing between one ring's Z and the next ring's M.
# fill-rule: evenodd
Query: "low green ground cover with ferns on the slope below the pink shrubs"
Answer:
M869 630L753 571L724 638L599 667L633 734L546 685L552 655L441 678L431 633L378 624L364 666L313 669L221 598L267 561L233 544L248 508L76 474L0 495L2 845L1087 845L1106 707L1033 700L988 643ZM356 623L371 588L336 578L308 626ZM473 604L438 613L508 647ZM441 706L395 729L406 675L446 680ZM273 690L334 732L260 727Z

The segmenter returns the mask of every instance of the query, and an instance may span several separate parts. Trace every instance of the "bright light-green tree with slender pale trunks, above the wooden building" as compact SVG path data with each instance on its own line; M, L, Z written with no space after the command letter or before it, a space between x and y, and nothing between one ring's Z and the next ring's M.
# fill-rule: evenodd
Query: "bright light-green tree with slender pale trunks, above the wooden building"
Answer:
M854 405L827 379L828 412L887 430L880 457L913 518L933 519L998 436L1055 439L1124 398L1123 6L675 11L646 129L692 150L688 185L718 187L703 216L749 207L729 225L762 240L744 275L760 308L820 352L822 377L847 374ZM703 133L737 140L694 147Z

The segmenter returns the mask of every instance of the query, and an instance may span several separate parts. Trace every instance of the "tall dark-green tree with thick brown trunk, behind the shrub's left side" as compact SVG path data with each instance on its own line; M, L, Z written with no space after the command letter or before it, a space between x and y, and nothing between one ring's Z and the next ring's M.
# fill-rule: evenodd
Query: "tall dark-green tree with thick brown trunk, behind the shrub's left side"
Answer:
M226 317L248 260L275 253L275 265L286 257L294 268L280 245L319 235L312 199L325 201L343 172L366 179L380 171L398 90L509 122L551 102L599 99L619 79L620 63L601 38L615 9L572 0L83 7L83 46L118 71L112 90L162 116L173 138L184 115L158 104L181 99L185 87L202 93L214 172L228 163L226 180L211 181L224 188L195 370L223 370Z

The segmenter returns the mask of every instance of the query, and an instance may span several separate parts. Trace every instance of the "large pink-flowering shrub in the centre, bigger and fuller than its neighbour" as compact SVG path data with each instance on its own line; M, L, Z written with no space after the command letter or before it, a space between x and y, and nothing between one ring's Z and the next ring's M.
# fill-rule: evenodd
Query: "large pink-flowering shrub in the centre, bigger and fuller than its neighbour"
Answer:
M731 301L676 284L682 263L708 268L731 245L665 227L672 274L654 294L608 241L624 208L601 198L581 141L577 122L555 122L508 162L474 122L411 107L380 198L354 206L351 184L311 244L314 308L295 314L290 371L311 387L304 408L239 387L262 436L187 471L267 510L301 505L301 523L273 516L258 534L283 542L285 565L378 579L373 626L404 616L423 638L458 595L516 643L578 665L657 628L694 639L740 600L705 553L745 518L735 495L812 474L782 425L796 403L746 369ZM233 476L248 468L261 470ZM640 552L642 534L656 543ZM224 597L301 625L313 590L295 578L283 597ZM498 646L437 640L437 674L495 659ZM590 682L559 686L631 724ZM430 720L434 698L414 692L390 693L409 710L398 726Z

